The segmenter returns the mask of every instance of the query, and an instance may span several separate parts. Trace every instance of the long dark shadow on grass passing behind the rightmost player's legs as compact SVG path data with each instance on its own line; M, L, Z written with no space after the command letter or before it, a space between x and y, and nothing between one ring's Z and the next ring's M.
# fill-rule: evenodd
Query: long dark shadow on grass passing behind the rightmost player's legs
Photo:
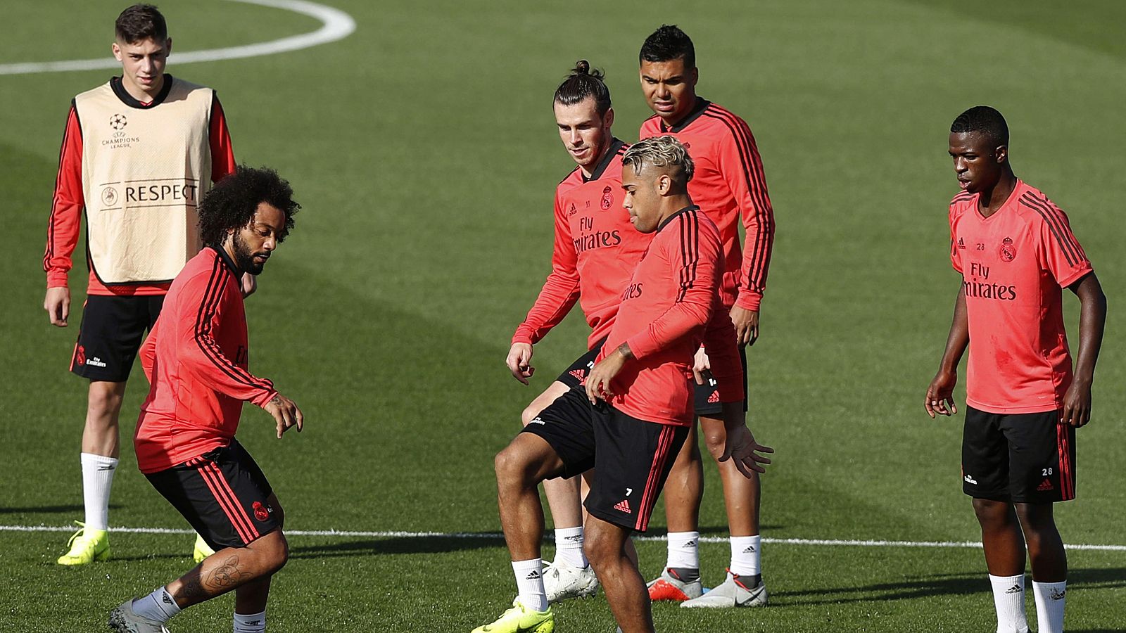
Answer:
M1069 588L1120 588L1126 587L1126 569L1070 569ZM989 592L989 583L982 573L938 573L903 582L881 582L877 585L851 586L831 589L807 589L801 591L775 591L771 599L778 604L838 605L846 603L868 603L872 600L911 600L932 596L951 596Z

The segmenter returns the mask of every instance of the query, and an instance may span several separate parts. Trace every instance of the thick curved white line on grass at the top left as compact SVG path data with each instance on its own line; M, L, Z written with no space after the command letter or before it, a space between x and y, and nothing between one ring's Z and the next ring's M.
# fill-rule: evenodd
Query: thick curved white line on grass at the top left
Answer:
M305 0L231 0L232 2L249 2L261 5L275 9L285 9L296 14L303 14L321 21L321 28L302 35L283 37L272 42L261 44L248 44L245 46L231 46L229 48L212 48L209 51L189 51L187 53L172 53L169 62L175 64L188 64L193 62L214 62L218 60L238 60L241 57L258 57L261 55L272 55L288 51L309 48L320 44L328 44L343 39L356 30L356 20L348 14L306 2ZM30 74L36 72L62 72L70 70L98 70L116 69L122 63L113 57L101 57L97 60L68 60L64 62L27 62L20 64L0 64L0 74Z

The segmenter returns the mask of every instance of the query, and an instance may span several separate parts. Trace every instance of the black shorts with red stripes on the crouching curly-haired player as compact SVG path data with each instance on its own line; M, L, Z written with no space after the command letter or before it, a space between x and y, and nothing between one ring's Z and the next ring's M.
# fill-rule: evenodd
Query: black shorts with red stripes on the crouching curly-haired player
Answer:
M214 550L242 547L280 527L270 482L236 439L145 476Z

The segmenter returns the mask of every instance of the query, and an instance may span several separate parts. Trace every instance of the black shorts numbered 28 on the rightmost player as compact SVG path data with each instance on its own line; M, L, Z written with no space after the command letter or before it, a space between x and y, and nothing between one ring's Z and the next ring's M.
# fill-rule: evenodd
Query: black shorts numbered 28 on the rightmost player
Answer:
M1075 427L1060 411L986 413L966 407L962 489L977 499L1052 503L1075 498Z

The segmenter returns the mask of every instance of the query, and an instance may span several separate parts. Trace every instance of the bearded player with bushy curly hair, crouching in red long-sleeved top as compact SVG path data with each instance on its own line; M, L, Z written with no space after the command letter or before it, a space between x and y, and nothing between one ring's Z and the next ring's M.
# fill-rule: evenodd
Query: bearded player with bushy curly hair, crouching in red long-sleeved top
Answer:
M282 506L234 438L243 402L266 409L277 436L304 424L274 383L248 371L240 279L259 275L301 208L269 169L239 167L199 204L206 244L177 275L141 349L152 385L141 405L137 466L216 552L109 616L115 631L159 633L186 607L232 589L234 630L266 630L270 577L288 559Z

